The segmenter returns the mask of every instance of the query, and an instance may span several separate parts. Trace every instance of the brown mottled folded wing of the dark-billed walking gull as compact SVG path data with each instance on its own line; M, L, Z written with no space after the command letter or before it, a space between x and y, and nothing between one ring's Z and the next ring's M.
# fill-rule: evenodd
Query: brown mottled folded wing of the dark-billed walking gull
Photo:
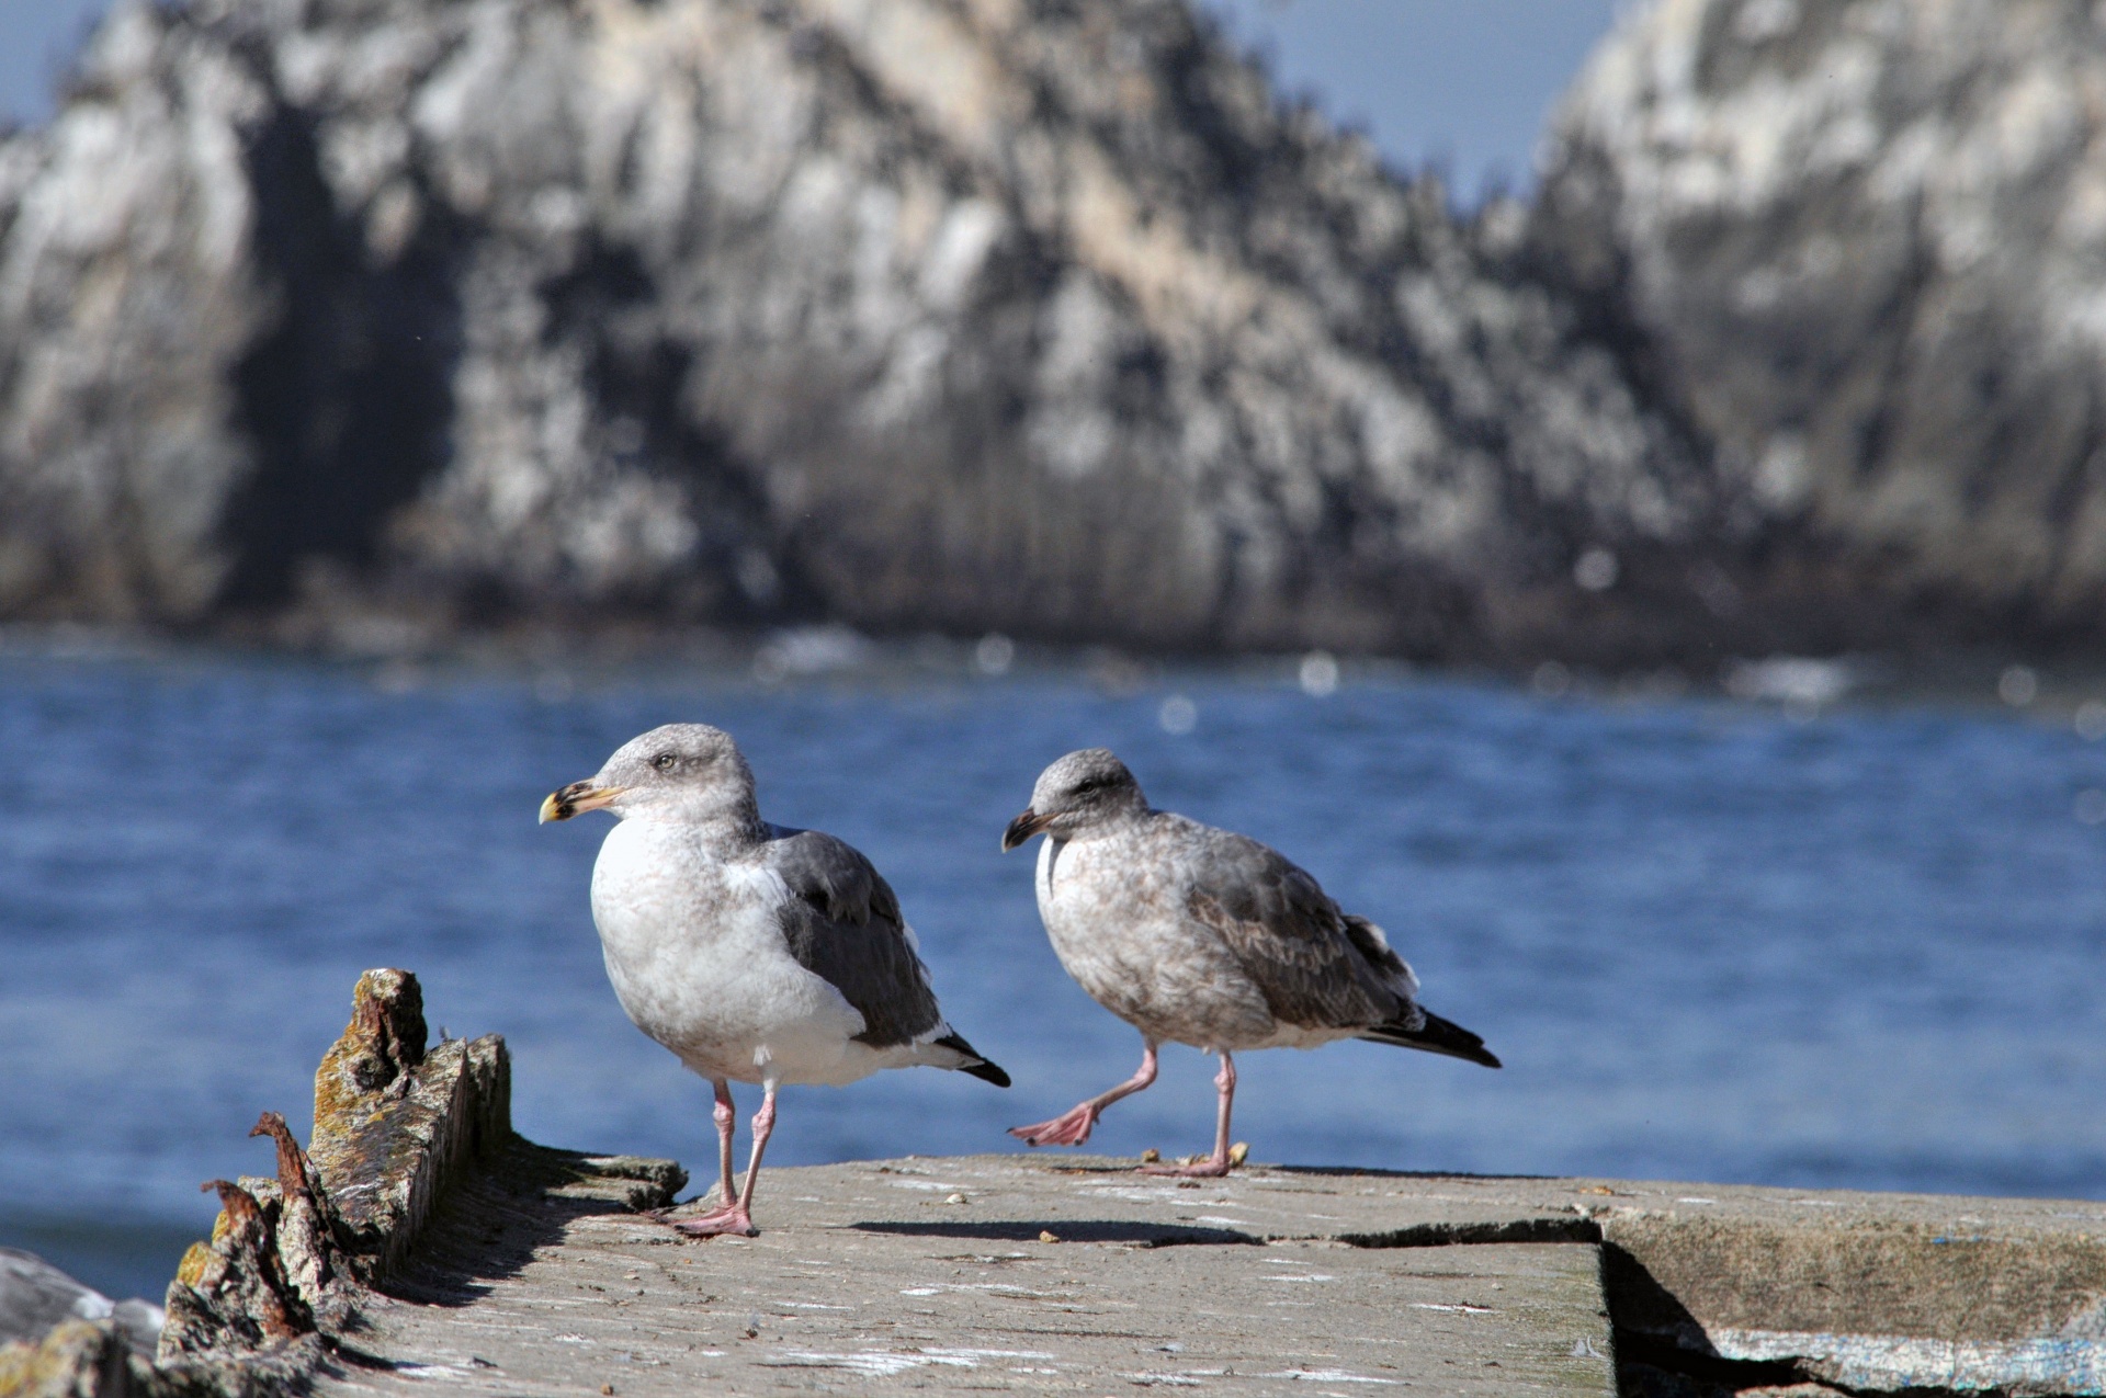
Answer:
M1306 872L1224 830L1207 830L1196 853L1186 907L1228 943L1274 1019L1365 1030L1415 1013L1411 968Z

